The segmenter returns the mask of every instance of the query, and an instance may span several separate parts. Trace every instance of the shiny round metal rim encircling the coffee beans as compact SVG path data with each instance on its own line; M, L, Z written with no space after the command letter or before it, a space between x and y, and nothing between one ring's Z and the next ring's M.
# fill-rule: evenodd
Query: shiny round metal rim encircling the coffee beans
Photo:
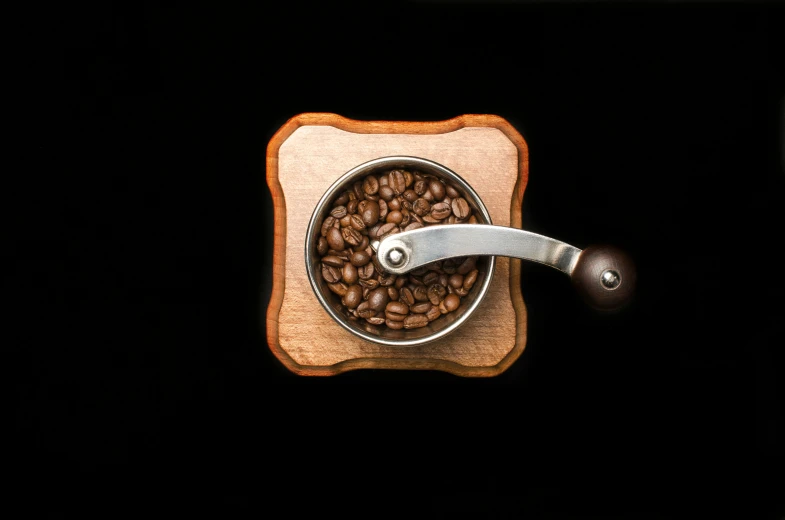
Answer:
M399 166L399 165L406 165L412 167L420 167L425 170L433 171L436 170L439 172L444 178L449 179L451 182L458 185L462 190L464 190L467 194L471 196L473 202L476 204L477 208L482 213L483 219L488 224L492 224L491 216L488 213L485 205L480 199L480 196L474 189L457 173L452 171L451 169L447 168L446 166L439 164L435 161L431 161L429 159L423 159L421 157L415 156L407 156L407 155L394 155L394 156L387 156L387 157L380 157L377 159L372 159L365 163L362 163L358 166L355 166L348 172L344 173L339 177L322 195L319 202L316 204L316 208L314 209L313 213L311 214L310 221L308 223L308 229L306 231L305 236L305 267L306 272L308 273L308 281L311 284L311 288L313 289L316 298L319 300L321 306L327 311L330 317L333 318L335 322L341 325L344 329L348 330L352 334L359 336L367 341L383 344L388 346L395 346L395 347L412 347L423 345L426 343L430 343L432 341L436 341L444 336L450 334L451 332L458 329L461 325L463 325L466 320L474 313L480 303L485 299L485 295L488 292L488 289L491 285L491 281L493 279L493 273L496 266L496 257L489 256L487 257L487 273L485 273L484 280L482 285L478 289L477 296L474 300L469 304L469 306L464 310L463 314L459 316L455 321L450 323L449 325L443 327L442 329L434 332L433 334L423 336L420 338L413 338L413 339L391 339L385 338L381 336L377 336L371 334L367 331L361 330L356 327L352 327L343 316L338 314L335 309L330 305L330 303L325 298L323 294L319 282L316 279L316 274L312 269L312 257L311 252L315 251L315 244L314 244L314 232L317 222L319 220L319 216L322 215L324 212L325 206L327 206L333 197L338 193L339 190L343 189L344 187L348 186L351 182L354 181L356 177L362 176L371 172L373 170L377 170L384 167L392 167L392 166Z

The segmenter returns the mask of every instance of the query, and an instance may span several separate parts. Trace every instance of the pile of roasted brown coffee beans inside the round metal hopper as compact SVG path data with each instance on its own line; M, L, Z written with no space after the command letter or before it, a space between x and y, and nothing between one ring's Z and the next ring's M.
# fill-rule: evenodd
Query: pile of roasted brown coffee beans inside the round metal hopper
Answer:
M369 174L333 201L316 249L321 274L350 320L416 329L455 311L477 280L476 256L448 258L396 276L381 268L373 240L424 226L475 224L454 186L416 170Z

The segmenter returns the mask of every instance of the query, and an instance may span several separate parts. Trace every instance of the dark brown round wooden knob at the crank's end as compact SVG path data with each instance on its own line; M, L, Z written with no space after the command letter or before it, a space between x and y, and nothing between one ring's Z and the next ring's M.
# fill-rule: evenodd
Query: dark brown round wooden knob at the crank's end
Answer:
M610 245L584 249L572 272L572 282L586 303L599 311L625 307L635 292L635 265L624 251Z

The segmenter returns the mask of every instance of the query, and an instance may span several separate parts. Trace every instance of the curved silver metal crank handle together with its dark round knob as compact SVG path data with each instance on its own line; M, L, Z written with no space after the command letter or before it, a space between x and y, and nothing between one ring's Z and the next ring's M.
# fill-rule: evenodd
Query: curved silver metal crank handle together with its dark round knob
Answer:
M636 272L630 257L610 245L578 249L522 229L488 224L427 226L389 235L372 247L382 268L404 274L431 262L461 256L507 256L562 271L586 303L602 311L624 307L632 297Z

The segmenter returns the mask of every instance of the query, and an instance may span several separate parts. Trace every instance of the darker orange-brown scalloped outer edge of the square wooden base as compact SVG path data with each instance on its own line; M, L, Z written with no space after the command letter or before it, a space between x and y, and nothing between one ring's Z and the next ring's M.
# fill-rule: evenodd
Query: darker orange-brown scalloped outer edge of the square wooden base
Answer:
M278 341L278 315L283 304L286 281L286 201L278 181L278 151L292 133L301 126L333 126L346 132L361 134L442 134L465 127L497 128L518 149L518 180L510 203L510 225L522 225L521 204L529 180L529 148L520 133L504 118L492 114L464 114L444 121L360 121L328 112L307 112L290 118L273 135L267 145L267 185L273 198L275 219L273 237L273 279L267 307L267 343L275 357L297 375L333 376L363 368L398 370L440 370L461 377L493 377L507 370L526 348L527 314L521 292L521 261L510 259L510 297L516 315L516 340L513 349L496 365L467 367L443 359L362 358L341 361L330 366L302 365L281 348Z

